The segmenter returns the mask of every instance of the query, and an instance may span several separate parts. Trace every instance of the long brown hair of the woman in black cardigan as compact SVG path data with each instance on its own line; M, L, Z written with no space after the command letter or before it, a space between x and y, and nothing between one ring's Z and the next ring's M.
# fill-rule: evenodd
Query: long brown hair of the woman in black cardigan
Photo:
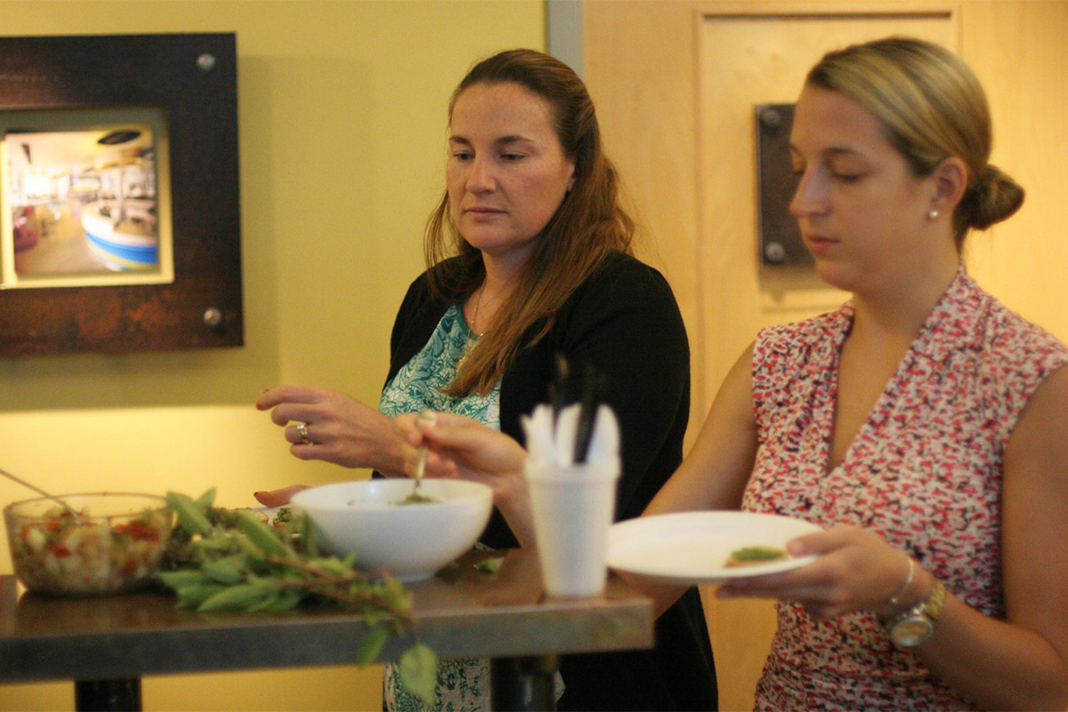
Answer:
M600 127L582 80L549 54L513 49L476 63L453 92L477 83L516 83L552 108L556 137L575 163L575 185L536 238L536 246L509 299L462 362L446 390L454 396L493 387L521 348L545 336L561 306L612 250L630 253L634 222L618 202L615 168L601 148ZM462 302L485 280L482 253L458 233L447 191L426 223L424 252L430 288ZM458 259L446 259L458 256Z

